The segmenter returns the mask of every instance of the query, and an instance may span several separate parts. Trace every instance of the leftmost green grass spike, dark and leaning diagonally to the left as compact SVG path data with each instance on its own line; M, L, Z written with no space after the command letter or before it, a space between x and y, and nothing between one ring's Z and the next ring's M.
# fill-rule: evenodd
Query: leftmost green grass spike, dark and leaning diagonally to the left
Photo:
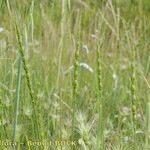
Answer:
M27 81L27 87L29 89L29 95L32 100L32 107L33 107L33 114L32 114L33 118L32 119L33 119L33 125L34 125L34 134L35 134L35 138L38 139L39 138L39 129L38 129L38 118L37 118L37 114L36 114L36 102L35 102L33 90L31 87L31 80L30 80L29 71L28 71L28 67L26 64L25 56L24 56L24 50L23 50L23 45L21 42L21 36L19 33L18 26L15 25L15 27L16 27L17 40L18 40L18 45L19 45L19 54L21 56L22 63L23 63L23 69L25 71L25 77L26 77L26 81Z

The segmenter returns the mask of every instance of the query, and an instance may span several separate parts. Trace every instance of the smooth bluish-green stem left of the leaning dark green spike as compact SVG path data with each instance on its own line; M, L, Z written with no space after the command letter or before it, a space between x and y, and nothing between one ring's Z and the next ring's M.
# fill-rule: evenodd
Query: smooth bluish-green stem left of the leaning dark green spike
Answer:
M18 123L18 114L19 114L19 101L20 101L20 86L21 86L21 57L19 57L19 61L18 61L13 141L16 141L16 132L17 132L17 123Z

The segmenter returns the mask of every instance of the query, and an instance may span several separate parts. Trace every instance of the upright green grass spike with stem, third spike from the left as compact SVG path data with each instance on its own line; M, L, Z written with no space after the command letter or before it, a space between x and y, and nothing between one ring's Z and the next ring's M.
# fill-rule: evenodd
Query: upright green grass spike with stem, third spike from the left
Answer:
M97 150L104 150L104 127L103 127L103 96L102 96L102 63L100 45L97 45L97 82L98 82L98 134Z

